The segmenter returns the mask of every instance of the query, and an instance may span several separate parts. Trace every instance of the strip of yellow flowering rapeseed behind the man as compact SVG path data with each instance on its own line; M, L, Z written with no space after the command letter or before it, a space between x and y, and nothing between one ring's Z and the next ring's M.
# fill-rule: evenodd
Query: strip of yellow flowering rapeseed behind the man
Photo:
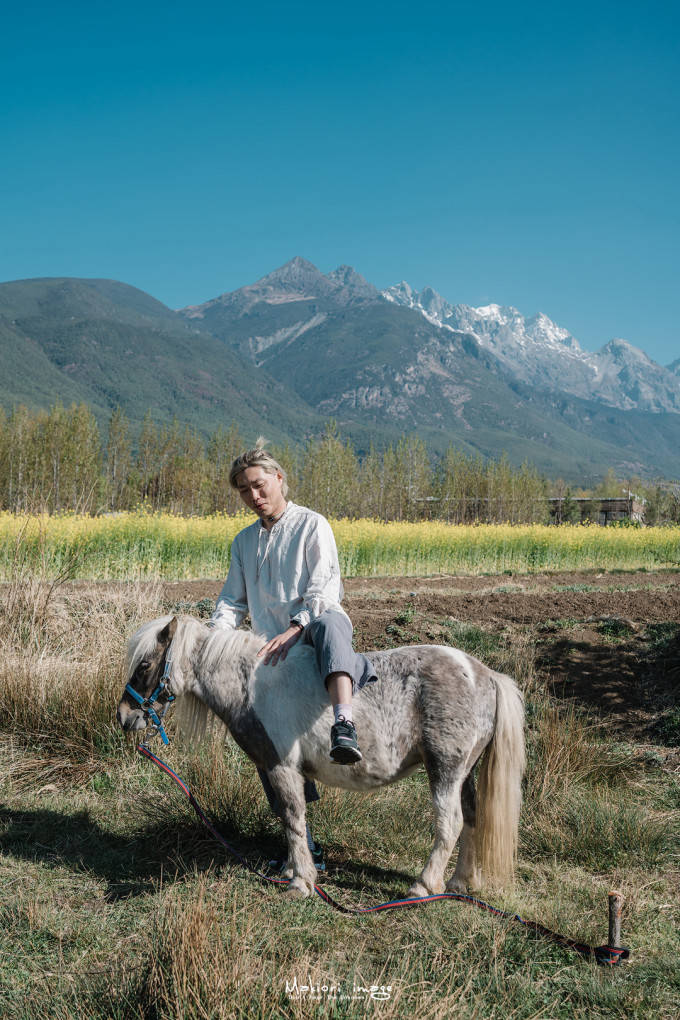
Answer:
M18 567L82 578L226 575L234 534L255 518L0 513L0 577ZM680 527L334 520L345 576L680 566Z

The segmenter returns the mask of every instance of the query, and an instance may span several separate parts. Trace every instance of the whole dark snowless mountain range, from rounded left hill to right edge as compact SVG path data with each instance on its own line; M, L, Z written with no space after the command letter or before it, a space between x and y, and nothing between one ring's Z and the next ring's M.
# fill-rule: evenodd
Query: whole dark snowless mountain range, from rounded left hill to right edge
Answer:
M443 299L427 297L432 314ZM484 306L475 322L500 309ZM526 321L551 339L546 316ZM452 443L505 450L583 483L609 467L677 474L680 415L526 381L471 324L436 324L351 266L324 274L300 258L181 311L116 280L13 282L0 285L0 403L85 401L100 422L120 405L134 421L176 416L205 435L233 421L293 443L333 417L360 453L417 431L433 454ZM569 348L563 333L552 339ZM615 343L611 359L626 355Z

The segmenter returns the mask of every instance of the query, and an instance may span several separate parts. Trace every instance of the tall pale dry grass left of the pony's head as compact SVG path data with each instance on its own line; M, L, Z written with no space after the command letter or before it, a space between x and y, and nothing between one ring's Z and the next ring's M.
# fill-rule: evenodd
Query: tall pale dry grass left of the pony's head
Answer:
M103 599L83 584L66 597L66 579L32 574L19 550L0 601L0 727L11 734L3 775L21 786L87 781L101 751L120 744L122 650L159 613L158 586L121 584Z

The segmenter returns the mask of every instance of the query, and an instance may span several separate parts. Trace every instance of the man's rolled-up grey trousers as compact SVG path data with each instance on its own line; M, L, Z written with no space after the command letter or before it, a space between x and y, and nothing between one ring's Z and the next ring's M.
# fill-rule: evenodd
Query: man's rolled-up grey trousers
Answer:
M314 649L316 664L323 682L331 673L347 673L352 677L352 694L356 694L366 683L377 679L369 659L352 648L354 627L349 616L336 609L327 609L315 620L308 623L302 635L305 645ZM280 815L280 806L267 773L258 769L269 807L275 815ZM319 800L319 792L311 779L305 779L305 801L312 804Z

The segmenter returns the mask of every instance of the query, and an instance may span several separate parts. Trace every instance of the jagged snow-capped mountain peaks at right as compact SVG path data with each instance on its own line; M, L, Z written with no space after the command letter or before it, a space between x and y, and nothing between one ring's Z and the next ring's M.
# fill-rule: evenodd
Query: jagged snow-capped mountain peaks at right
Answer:
M402 282L382 297L419 311L433 325L470 334L523 382L623 410L680 413L680 360L665 368L625 340L584 351L541 312L526 318L512 306L452 305L430 287L418 292Z

